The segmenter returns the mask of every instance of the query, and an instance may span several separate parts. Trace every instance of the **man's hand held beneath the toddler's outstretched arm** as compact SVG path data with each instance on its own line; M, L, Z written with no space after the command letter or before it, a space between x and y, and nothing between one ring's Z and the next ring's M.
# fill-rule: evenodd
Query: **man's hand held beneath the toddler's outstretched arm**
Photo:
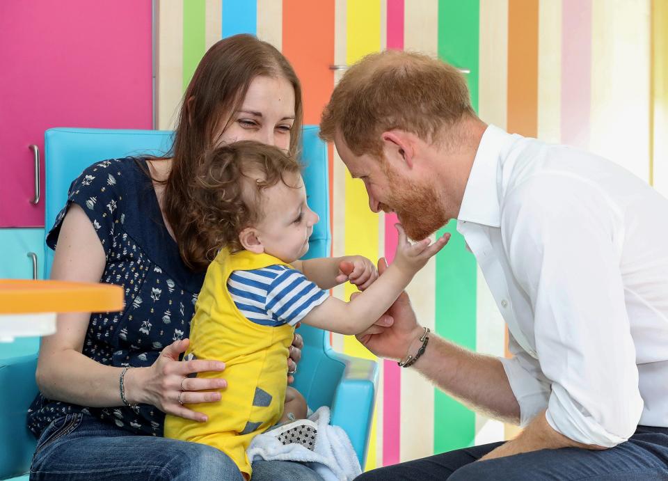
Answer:
M380 258L379 275L382 276L387 268L385 258ZM352 297L359 294L353 293ZM358 334L356 338L376 356L399 360L406 356L411 342L422 336L423 332L422 327L417 324L411 299L408 299L408 294L404 291L376 324Z

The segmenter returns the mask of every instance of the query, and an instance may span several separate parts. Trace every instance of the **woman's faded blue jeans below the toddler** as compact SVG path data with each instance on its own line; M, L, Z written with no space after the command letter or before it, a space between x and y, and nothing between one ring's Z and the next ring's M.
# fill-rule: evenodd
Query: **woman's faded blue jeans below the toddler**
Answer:
M97 418L71 414L42 432L30 468L31 480L242 481L225 453L198 443L136 436ZM321 481L293 462L253 463L253 481Z

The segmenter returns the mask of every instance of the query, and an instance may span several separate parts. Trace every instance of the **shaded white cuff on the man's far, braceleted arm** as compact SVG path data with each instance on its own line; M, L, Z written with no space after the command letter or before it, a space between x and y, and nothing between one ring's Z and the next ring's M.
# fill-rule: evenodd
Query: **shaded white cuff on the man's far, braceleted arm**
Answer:
M539 381L523 368L518 358L498 358L508 377L510 388L520 405L520 426L525 427L548 407L550 385Z

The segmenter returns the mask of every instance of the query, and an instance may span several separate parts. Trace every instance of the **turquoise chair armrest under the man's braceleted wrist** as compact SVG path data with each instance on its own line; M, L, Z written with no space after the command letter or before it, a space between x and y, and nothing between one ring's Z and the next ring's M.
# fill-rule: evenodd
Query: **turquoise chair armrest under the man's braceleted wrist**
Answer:
M378 363L338 353L335 358L346 367L334 394L331 423L348 434L364 469L378 387Z

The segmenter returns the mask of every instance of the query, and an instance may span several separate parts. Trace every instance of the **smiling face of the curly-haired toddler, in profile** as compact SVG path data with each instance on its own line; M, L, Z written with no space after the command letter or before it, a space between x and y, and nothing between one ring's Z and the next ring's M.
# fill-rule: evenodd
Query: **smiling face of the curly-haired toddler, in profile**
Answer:
M283 262L294 262L308 251L308 238L319 216L306 203L306 190L299 174L286 174L285 181L262 192L263 219L255 226L264 252Z

